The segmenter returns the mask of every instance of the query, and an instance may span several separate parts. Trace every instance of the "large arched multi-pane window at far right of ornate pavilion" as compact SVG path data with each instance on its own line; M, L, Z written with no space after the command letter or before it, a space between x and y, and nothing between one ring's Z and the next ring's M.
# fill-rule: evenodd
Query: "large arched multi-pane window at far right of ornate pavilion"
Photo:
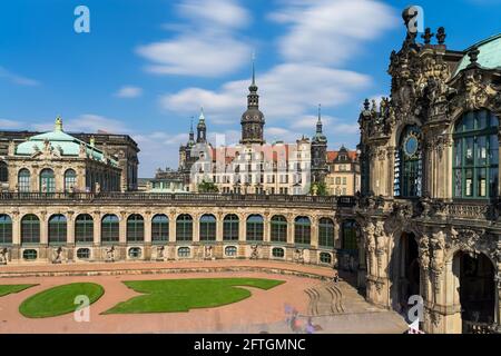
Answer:
M488 110L471 111L454 128L454 197L498 196L499 120Z

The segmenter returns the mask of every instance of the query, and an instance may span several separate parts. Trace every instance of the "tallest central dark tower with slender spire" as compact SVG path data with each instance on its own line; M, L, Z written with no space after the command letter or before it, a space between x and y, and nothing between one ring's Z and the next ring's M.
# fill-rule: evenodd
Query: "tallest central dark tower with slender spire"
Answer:
M264 115L259 111L259 96L257 95L256 71L253 61L253 82L248 87L247 111L242 115L242 145L263 145Z

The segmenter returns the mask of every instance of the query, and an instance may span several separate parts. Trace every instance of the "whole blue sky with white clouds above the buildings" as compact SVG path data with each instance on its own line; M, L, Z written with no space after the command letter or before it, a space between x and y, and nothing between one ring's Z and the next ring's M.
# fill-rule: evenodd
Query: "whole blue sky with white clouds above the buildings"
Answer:
M73 10L90 10L76 33ZM312 136L323 106L330 149L358 141L364 98L387 95L406 1L17 0L0 12L0 129L132 136L140 176L177 167L190 117L209 139L239 138L252 53L268 141ZM425 27L463 50L499 33L501 0L419 1Z

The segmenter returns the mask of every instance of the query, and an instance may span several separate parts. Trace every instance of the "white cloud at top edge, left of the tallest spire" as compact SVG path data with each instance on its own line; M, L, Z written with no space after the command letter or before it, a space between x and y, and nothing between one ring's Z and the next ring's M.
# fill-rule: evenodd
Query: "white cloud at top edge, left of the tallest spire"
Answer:
M149 60L147 71L219 77L234 72L249 60L252 49L236 30L245 28L250 16L237 1L184 0L178 12L188 26L175 27L177 34L174 38L136 49Z

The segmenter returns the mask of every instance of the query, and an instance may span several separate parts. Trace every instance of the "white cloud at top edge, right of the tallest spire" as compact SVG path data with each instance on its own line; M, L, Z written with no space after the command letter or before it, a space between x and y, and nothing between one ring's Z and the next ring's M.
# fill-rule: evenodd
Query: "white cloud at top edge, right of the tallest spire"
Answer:
M399 23L394 10L372 0L287 1L269 19L289 31L278 40L287 61L340 65Z

